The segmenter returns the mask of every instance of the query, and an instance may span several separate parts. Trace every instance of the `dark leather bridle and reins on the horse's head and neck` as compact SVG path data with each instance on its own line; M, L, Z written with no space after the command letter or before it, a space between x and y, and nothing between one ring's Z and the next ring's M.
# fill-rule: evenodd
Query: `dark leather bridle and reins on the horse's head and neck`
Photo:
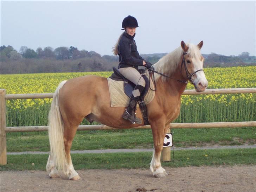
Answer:
M185 59L184 59L184 55L186 55L187 54L187 52L183 52L183 54L182 54L182 63L181 63L181 67L180 67L180 73L181 73L181 70L182 70L182 65L183 65L183 63L184 63L184 68L185 68L185 71L186 71L186 75L187 75L187 78L188 78L188 80L194 85L194 81L191 79L192 78L192 76L194 75L194 74L196 74L198 71L204 71L203 69L199 69L199 70L197 70L197 71L195 71L195 72L193 72L192 74L188 71L188 69L187 69L187 65L186 65L186 62L185 62ZM175 79L175 78L172 78L172 77L169 77L169 76L167 76L167 75L164 75L164 74L162 74L162 73L160 73L160 72L158 72L158 71L155 71L155 70L153 70L152 68L149 68L148 69L149 70L149 88L151 89L151 87L150 87L150 74L151 73L153 73L153 81L154 81L154 85L155 85L155 89L153 90L153 89L151 89L152 91L155 91L156 90L156 83L155 83L155 73L158 73L159 75L162 75L162 76L164 76L164 77L168 77L168 78L170 78L170 79L174 79L174 80L176 80L176 81L179 81L179 82L181 82L181 83L185 83L185 84L187 84L188 83L188 81L182 81L182 80L179 80L179 79Z

